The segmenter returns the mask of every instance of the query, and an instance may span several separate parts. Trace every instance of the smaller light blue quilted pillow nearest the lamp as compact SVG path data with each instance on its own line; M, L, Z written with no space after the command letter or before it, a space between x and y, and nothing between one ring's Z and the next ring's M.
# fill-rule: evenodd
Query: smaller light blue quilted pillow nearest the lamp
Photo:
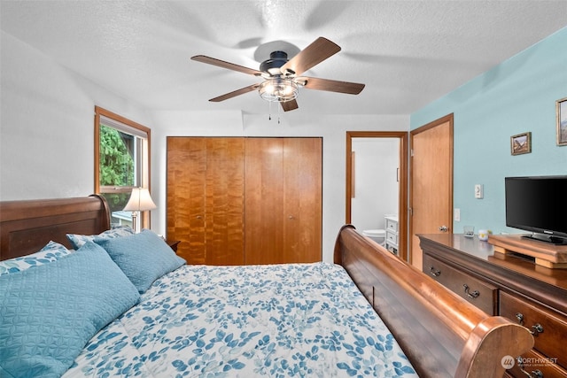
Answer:
M185 264L183 258L175 255L169 245L149 229L114 239L95 237L95 243L108 252L140 293L162 275Z

